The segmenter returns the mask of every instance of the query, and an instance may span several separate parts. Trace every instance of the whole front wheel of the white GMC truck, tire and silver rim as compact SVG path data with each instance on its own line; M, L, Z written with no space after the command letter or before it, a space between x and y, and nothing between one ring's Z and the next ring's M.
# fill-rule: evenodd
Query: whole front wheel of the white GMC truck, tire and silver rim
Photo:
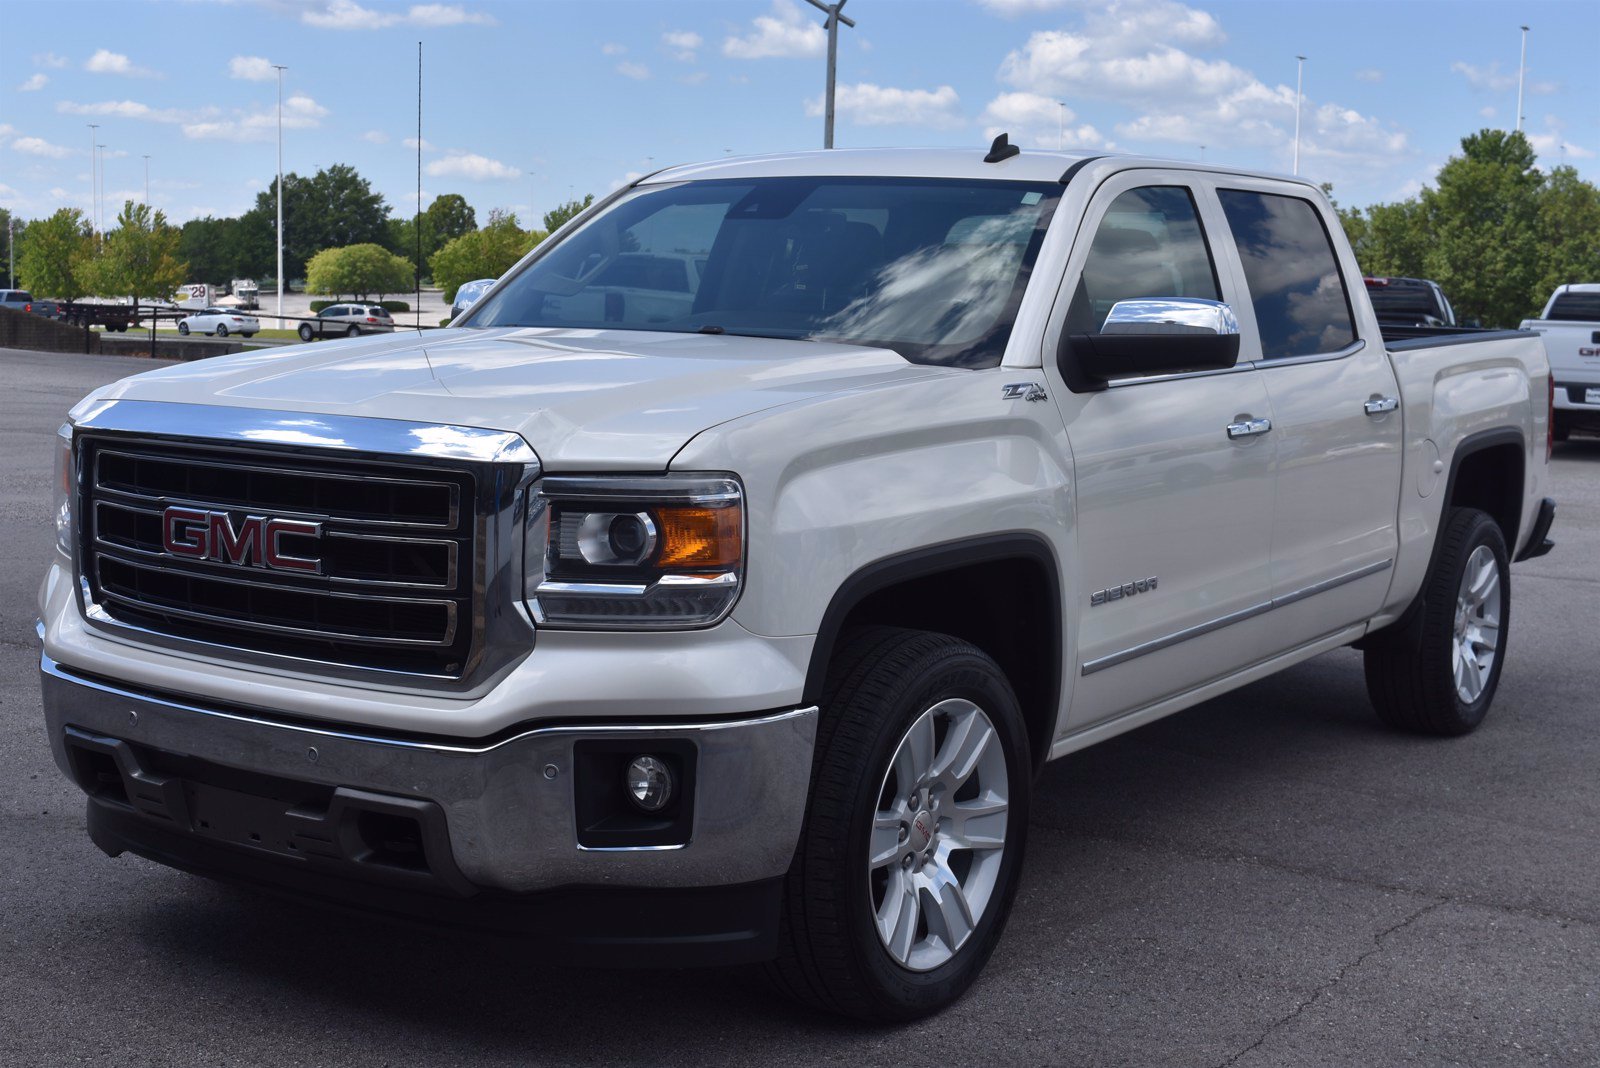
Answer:
M1027 729L998 665L958 638L872 627L834 664L771 974L821 1009L912 1020L960 998L1005 927Z

